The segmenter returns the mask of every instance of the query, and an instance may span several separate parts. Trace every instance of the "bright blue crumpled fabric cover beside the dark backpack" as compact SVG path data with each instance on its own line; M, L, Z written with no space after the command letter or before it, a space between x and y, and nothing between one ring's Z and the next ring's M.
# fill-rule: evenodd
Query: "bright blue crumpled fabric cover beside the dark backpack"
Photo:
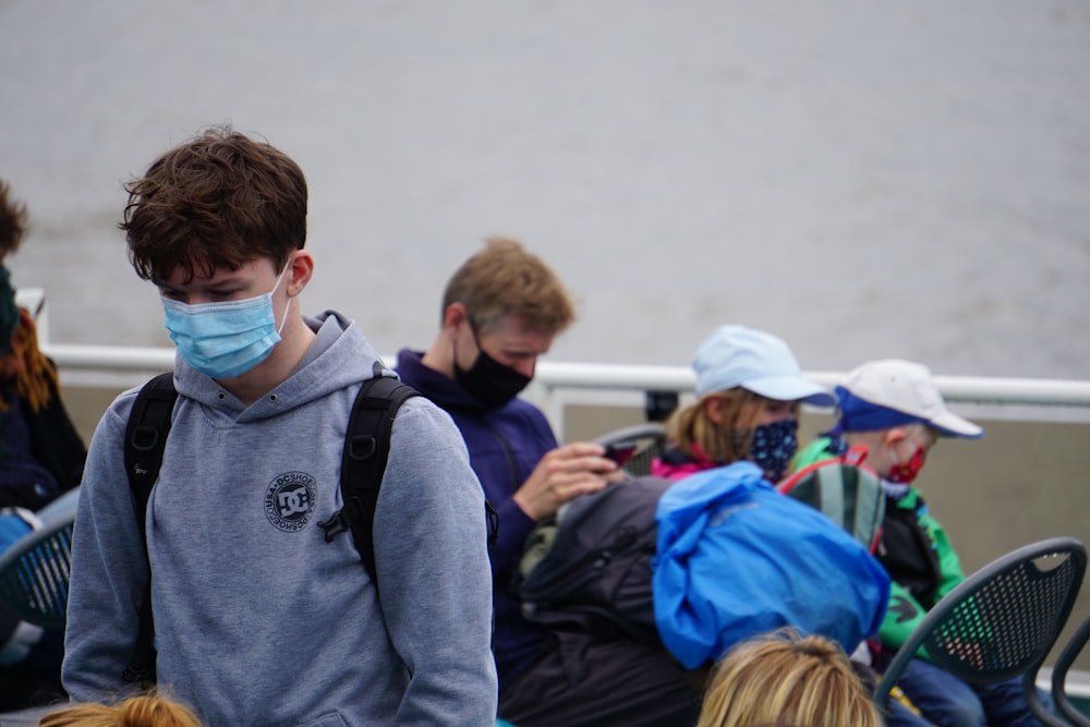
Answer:
M655 518L655 622L687 668L785 626L850 653L882 623L885 569L819 510L776 492L752 462L678 481Z

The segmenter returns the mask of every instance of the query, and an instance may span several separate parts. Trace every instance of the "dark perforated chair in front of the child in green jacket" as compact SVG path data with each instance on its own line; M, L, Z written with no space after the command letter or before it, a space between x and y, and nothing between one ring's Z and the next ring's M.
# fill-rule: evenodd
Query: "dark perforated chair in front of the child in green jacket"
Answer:
M920 646L935 666L973 683L1021 678L1022 693L1045 725L1064 727L1037 693L1037 674L1075 606L1087 550L1074 537L1018 548L969 575L928 611L882 675L874 701L889 690Z

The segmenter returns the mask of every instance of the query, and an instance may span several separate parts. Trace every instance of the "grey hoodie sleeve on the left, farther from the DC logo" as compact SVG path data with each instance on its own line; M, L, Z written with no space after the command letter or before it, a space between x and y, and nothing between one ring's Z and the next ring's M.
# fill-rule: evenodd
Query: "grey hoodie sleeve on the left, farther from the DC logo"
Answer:
M73 701L116 699L128 687L148 569L124 468L134 392L98 423L87 455L72 536L72 572L61 679Z

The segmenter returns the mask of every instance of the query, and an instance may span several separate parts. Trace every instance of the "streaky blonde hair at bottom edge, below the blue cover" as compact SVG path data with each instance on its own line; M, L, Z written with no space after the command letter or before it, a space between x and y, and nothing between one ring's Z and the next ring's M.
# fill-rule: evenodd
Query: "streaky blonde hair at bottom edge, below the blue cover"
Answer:
M881 727L844 650L783 629L741 642L716 665L698 727Z

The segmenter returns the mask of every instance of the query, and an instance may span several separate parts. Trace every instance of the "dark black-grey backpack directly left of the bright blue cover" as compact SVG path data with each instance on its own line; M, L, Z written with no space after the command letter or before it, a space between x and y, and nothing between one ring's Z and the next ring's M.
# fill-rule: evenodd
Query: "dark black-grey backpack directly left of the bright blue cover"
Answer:
M662 643L651 560L655 509L671 484L632 477L579 497L538 524L512 583L522 615L554 629Z

